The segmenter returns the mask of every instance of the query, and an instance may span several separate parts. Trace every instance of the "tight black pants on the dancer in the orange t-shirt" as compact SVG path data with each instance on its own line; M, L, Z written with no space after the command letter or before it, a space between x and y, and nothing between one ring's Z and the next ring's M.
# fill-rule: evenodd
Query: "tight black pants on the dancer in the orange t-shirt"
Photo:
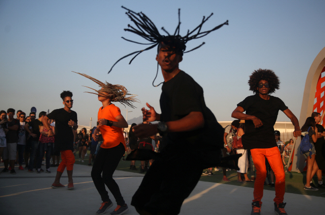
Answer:
M98 151L93 169L91 170L91 177L102 201L108 201L110 199L105 189L106 184L113 194L117 205L125 204L120 188L113 179L113 173L124 153L125 147L122 143L110 149L100 148ZM101 173L103 173L103 177Z

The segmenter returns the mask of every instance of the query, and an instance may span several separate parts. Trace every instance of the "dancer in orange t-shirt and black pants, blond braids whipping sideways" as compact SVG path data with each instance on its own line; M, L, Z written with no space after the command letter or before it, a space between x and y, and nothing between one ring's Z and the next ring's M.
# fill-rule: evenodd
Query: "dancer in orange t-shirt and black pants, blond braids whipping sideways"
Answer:
M134 96L126 97L126 95L130 94L121 85L113 85L107 82L105 84L85 74L77 74L93 80L101 87L100 90L95 90L97 93L89 92L97 94L98 100L103 105L98 110L98 125L93 135L95 141L98 140L99 132L103 138L103 143L100 145L91 171L91 177L103 201L96 214L104 214L113 206L113 202L110 200L108 192L105 189L106 184L117 203L117 207L111 215L121 215L128 212L129 208L122 197L118 185L113 179L113 173L126 151L126 143L121 128L127 128L129 125L122 116L120 108L116 107L112 102L120 102L121 104L126 104L134 108L130 102L135 102L137 99Z

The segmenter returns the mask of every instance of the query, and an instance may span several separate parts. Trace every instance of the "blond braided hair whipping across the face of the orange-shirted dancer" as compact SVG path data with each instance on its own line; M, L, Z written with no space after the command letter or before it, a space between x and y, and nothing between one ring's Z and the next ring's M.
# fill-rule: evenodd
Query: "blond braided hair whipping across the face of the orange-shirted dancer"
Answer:
M77 73L77 72L74 72L74 73ZM88 92L88 93L93 93L93 94L96 94L96 95L99 95L99 96L102 96L105 98L109 98L109 99L111 99L112 102L119 102L122 105L124 105L124 107L125 107L125 105L127 105L129 107L134 108L134 106L132 105L131 102L139 101L138 99L135 98L135 96L126 97L127 95L133 95L133 94L130 94L128 92L128 90L122 85L113 85L113 84L108 83L107 81L105 84L105 83L103 83L93 77L90 77L86 74L83 74L83 73L77 73L77 74L94 81L95 83L97 83L99 85L99 87L103 88L100 90L95 90L93 88L87 87L87 88L92 89L97 92L97 93L95 93L95 92ZM83 87L86 87L86 86L83 86ZM108 95L103 92L108 93Z

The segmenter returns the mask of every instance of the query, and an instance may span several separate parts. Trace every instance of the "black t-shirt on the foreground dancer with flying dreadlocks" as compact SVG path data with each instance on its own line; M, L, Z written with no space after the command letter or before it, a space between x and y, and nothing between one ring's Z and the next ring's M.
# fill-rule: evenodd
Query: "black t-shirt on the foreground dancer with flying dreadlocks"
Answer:
M185 132L168 132L162 137L164 147L168 144L191 146L191 150L215 150L223 147L223 128L206 107L203 89L195 80L183 71L162 85L160 97L162 110L161 121L170 122L182 119L190 112L202 112L205 125L203 128ZM212 135L213 134L213 135Z

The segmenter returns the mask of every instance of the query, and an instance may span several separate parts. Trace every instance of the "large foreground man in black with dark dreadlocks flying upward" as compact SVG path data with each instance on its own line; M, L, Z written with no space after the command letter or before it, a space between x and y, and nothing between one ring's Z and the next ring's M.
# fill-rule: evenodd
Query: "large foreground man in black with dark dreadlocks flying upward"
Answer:
M132 198L131 205L141 215L177 215L183 201L195 188L204 167L215 166L214 164L205 166L203 161L207 158L207 154L211 153L211 157L220 161L220 150L223 147L223 128L217 123L211 110L206 107L202 87L191 76L179 69L179 62L182 61L183 53L186 53L184 52L185 44L188 41L203 37L227 25L228 22L210 31L201 32L202 25L211 17L211 14L207 18L203 17L201 24L195 30L188 31L183 37L179 35L180 21L174 35L170 35L162 28L168 34L163 36L146 15L125 9L128 10L127 15L138 28L129 25L130 29L126 31L148 40L150 44L146 45L153 44L130 55L136 53L138 55L158 46L156 61L161 67L164 78L160 98L162 113L158 114L147 103L146 106L149 109L142 108L145 121L160 122L133 127L134 134L139 138L152 136L158 132L163 137L159 159L155 159L148 169ZM211 138L212 132L216 134L216 137ZM210 159L206 160L210 161ZM179 174L180 169L181 174Z

